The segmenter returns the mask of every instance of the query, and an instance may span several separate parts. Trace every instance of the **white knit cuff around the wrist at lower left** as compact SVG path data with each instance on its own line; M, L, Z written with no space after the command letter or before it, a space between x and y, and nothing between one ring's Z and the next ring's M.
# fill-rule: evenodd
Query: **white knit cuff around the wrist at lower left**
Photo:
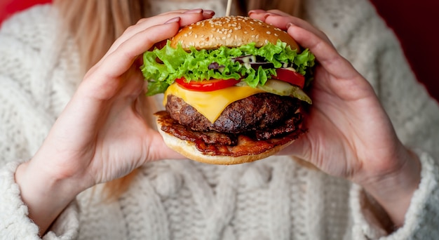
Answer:
M40 239L38 226L28 218L27 206L20 198L20 187L14 173L20 161L0 168L0 236L2 239ZM76 201L61 213L44 240L75 239L79 231L79 211Z

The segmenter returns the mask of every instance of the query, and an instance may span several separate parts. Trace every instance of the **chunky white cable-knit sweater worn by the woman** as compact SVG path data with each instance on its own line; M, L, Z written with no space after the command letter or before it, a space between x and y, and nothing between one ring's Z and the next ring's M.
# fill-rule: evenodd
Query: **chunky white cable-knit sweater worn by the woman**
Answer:
M155 11L182 7L153 3ZM304 4L306 19L370 81L400 139L419 154L421 183L403 227L386 236L360 187L274 156L237 166L147 164L119 201L103 203L102 186L80 194L43 239L439 239L438 105L366 0ZM217 15L224 6L201 4ZM14 172L39 149L81 79L76 48L58 42L57 22L46 5L0 30L0 239L39 239Z

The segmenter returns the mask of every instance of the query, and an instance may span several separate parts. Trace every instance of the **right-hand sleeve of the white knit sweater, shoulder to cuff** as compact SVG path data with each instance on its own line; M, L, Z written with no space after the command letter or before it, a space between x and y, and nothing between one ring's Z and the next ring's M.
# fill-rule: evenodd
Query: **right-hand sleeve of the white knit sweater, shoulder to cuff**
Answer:
M374 213L367 207L363 189L353 185L353 239L438 239L438 102L417 81L391 29L377 18L374 11L367 16L367 24L351 29L351 33L355 34L352 34L348 46L343 48L344 53L370 81L398 138L417 152L422 170L419 189L414 193L405 215L405 225L389 236L386 236ZM363 39L367 39L367 42Z

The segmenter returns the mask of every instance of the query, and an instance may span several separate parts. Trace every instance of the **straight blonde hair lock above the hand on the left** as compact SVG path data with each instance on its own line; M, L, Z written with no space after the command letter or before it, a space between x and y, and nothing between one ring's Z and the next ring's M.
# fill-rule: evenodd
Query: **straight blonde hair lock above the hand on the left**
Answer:
M139 0L54 0L53 4L79 48L84 73L127 27L148 15L146 1Z

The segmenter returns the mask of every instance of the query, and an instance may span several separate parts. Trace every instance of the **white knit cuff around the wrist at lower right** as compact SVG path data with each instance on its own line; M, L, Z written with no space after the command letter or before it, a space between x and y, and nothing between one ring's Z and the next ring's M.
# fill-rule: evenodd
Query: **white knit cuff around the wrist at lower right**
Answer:
M418 151L421 161L421 182L414 192L405 214L405 224L387 235L376 215L365 207L367 199L363 189L353 185L353 239L438 239L439 237L439 166L429 154Z

